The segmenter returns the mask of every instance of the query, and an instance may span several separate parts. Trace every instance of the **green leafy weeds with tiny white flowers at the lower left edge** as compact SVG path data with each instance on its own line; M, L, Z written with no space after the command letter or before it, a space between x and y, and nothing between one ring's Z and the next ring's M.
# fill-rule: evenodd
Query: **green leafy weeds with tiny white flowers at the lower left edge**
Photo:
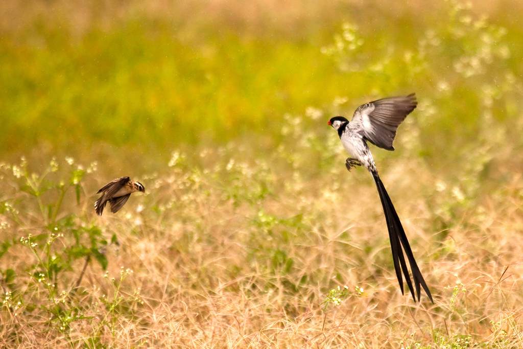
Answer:
M84 168L75 164L71 157L62 165L53 158L42 173L29 173L28 163L23 158L19 164L0 164L2 178L9 178L0 197L1 229L5 230L2 254L13 256L24 253L20 248L29 250L25 251L25 258L18 258L22 265L16 271L6 268L0 273L2 314L15 317L23 313L31 319L29 321L35 322L45 318L45 325L64 335L69 343L73 323L89 318L87 309L95 307L98 312L104 308L107 311L93 328L92 335L96 339L105 327L111 328L113 317L130 316L132 308L141 302L137 292L130 297L120 294L123 279L132 273L123 268L119 279L111 278L105 283L113 295L91 294L88 303L76 297L90 262L96 261L106 271L107 248L118 244L116 234L110 239L104 236L88 215L61 212L64 197L71 202L74 196L77 205L84 200L84 176L95 171L96 163ZM72 191L74 194L70 193ZM62 214L58 218L59 212ZM24 233L36 234L29 232L15 238L14 227ZM83 267L76 269L78 260L83 261ZM104 277L108 278L107 271ZM122 309L124 303L127 306ZM96 344L94 339L84 341Z

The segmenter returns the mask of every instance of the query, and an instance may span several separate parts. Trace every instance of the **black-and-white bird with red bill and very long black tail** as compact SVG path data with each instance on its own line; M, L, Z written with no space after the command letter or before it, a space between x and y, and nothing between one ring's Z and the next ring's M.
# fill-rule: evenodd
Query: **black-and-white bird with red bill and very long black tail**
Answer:
M397 216L389 194L387 194L385 186L381 182L376 164L367 145L367 141L369 141L377 145L377 147L394 150L392 142L396 136L396 129L400 123L405 120L405 117L416 108L416 105L415 94L378 99L358 107L350 122L343 116L336 116L328 121L328 125L338 131L338 136L342 141L343 147L351 156L345 163L347 170L350 171L350 169L355 166L363 166L367 168L374 177L374 182L376 182L376 186L378 187L381 205L383 206L383 212L385 213L387 228L389 229L394 269L397 280L400 283L401 293L404 294L403 271L405 281L411 290L412 298L416 301L411 277L408 274L407 264L405 263L405 257L402 252L403 248L403 251L407 255L408 262L411 265L418 301L420 299L420 287L423 287L430 301L434 303L425 279L414 260L414 255L408 243L407 235L403 230L400 218Z

